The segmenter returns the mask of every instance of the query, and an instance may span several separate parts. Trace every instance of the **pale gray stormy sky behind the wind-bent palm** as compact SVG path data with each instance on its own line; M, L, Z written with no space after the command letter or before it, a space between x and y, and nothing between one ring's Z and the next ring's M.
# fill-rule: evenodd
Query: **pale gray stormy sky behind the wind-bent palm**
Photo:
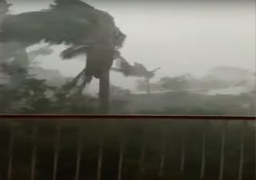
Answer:
M51 1L10 0L13 13L46 9ZM255 70L255 6L248 3L202 4L86 1L115 18L127 35L122 54L148 69L160 66L157 78L191 73L206 74L214 66ZM62 46L56 50L62 50ZM78 74L84 58L63 62L58 52L40 64L67 76ZM131 87L134 78L112 74L112 82Z

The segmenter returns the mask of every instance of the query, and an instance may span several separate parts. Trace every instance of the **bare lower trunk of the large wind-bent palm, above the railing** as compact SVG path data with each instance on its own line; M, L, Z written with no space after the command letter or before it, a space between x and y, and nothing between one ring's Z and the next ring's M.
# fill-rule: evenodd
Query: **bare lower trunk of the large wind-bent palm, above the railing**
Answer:
M110 113L110 71L106 70L99 78L99 113Z

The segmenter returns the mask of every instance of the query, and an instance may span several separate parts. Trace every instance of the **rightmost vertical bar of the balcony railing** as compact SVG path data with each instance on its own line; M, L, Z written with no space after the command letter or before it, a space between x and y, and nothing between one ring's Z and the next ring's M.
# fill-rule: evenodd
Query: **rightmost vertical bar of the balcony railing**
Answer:
M238 180L242 180L245 130L246 130L246 121L243 122L242 130L241 130L241 137L240 137L241 146L240 146L240 162L239 162L239 170L238 170Z

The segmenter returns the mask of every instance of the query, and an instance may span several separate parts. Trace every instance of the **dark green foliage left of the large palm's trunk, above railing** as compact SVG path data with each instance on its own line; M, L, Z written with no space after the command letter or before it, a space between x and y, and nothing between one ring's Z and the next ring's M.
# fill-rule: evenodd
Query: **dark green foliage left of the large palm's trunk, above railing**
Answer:
M68 94L62 88L47 86L45 80L26 78L22 84L0 86L0 112L3 114L94 114L94 98Z

